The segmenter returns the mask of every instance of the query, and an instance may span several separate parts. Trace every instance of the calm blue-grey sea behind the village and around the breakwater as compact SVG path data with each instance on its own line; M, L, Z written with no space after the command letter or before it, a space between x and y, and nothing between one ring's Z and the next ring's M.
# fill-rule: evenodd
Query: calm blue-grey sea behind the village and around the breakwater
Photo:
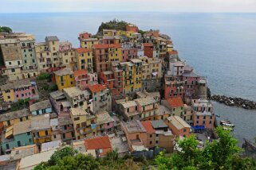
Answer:
M14 32L34 34L36 41L56 35L79 47L81 32L96 33L101 22L112 19L136 24L140 29L160 29L169 35L179 57L207 76L211 94L256 101L256 14L83 12L49 14L0 14L0 25ZM256 137L256 110L213 102L218 120L234 123L233 135Z

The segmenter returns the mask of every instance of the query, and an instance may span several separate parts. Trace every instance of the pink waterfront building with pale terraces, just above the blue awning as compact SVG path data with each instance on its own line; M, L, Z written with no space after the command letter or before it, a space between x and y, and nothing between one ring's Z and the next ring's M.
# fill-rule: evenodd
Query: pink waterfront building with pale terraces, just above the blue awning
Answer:
M192 99L194 126L204 126L213 129L215 124L215 114L213 106L206 99Z

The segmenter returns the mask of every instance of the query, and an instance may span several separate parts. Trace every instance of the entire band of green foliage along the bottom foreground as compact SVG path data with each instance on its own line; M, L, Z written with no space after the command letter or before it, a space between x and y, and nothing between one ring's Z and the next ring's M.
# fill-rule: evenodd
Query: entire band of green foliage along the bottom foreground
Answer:
M246 170L256 169L256 163L249 157L239 155L241 149L230 135L229 131L222 128L216 129L219 140L207 142L204 149L198 149L198 141L195 136L178 141L181 151L171 154L163 152L156 156L155 160L146 160L144 157L135 158L130 155L119 157L115 151L107 153L102 158L94 158L91 155L77 153L70 146L57 150L47 162L42 162L35 170L52 169L223 169Z

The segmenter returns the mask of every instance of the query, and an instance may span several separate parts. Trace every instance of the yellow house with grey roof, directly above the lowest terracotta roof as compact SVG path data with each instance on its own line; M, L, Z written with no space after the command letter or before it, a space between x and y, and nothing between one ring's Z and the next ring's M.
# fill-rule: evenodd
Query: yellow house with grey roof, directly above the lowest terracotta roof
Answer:
M70 116L75 130L76 140L96 134L96 117L82 108L71 108Z

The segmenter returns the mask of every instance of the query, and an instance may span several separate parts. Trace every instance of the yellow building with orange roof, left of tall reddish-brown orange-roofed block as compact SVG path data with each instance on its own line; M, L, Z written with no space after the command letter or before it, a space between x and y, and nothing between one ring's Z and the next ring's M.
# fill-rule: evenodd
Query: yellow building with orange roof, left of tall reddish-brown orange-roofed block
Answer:
M85 48L76 49L77 69L93 72L93 51Z

